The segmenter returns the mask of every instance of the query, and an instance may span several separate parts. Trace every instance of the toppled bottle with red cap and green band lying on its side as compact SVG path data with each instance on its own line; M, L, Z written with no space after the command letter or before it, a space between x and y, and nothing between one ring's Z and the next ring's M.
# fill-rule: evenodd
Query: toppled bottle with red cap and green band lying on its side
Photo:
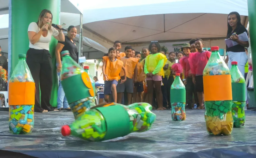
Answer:
M148 103L98 105L72 124L62 126L61 133L63 136L74 135L88 141L102 141L132 132L148 131L156 120L151 110L152 106Z

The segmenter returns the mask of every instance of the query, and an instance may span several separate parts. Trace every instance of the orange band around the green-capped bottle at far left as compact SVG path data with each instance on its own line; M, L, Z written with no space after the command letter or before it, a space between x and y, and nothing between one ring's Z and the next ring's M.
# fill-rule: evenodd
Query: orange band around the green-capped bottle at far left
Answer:
M9 83L9 105L34 105L35 89L33 82Z

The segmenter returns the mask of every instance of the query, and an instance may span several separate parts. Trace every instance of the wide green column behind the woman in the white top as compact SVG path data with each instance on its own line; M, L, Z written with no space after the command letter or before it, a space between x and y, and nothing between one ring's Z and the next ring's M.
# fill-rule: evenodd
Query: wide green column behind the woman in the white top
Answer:
M52 12L52 23L60 23L60 0L9 0L9 54L8 77L18 62L18 54L26 54L29 47L28 25L37 22L40 12L48 9ZM57 40L52 37L50 54L53 65L53 86L51 104L57 106L58 76L56 73L55 46Z

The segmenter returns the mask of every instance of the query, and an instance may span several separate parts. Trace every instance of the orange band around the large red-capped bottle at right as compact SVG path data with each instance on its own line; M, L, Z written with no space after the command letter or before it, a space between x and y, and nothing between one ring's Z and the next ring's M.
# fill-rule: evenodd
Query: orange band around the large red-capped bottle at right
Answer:
M203 76L204 101L232 100L231 75Z

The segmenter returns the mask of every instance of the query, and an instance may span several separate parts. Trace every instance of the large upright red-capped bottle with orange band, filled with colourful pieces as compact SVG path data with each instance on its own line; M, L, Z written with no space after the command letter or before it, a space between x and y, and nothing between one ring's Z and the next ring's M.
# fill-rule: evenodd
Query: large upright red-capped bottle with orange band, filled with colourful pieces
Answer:
M230 135L233 130L231 75L220 58L219 47L211 50L203 71L206 128L209 134Z

